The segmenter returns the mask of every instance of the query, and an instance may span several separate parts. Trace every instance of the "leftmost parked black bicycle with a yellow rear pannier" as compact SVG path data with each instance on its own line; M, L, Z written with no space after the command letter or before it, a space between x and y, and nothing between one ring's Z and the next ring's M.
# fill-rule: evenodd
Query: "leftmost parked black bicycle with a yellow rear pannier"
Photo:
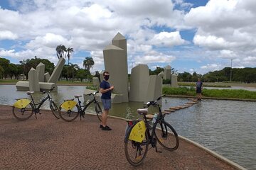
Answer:
M35 103L35 101L33 100L32 94L34 93L34 91L27 91L26 94L28 96L31 96L31 100L29 100L28 98L16 99L17 101L13 105L14 117L17 118L18 120L27 120L28 118L31 118L33 113L35 113L35 115L37 113L41 114L40 108L43 105L43 103L48 100L50 102L50 110L52 111L55 118L59 119L60 117L59 117L58 106L55 104L55 102L53 101L53 98L50 96L50 91L53 91L53 89L50 89L48 92L41 91L41 94L47 94L47 96L46 97L44 96L43 98L41 98L40 103ZM36 116L36 119L37 119L37 116Z

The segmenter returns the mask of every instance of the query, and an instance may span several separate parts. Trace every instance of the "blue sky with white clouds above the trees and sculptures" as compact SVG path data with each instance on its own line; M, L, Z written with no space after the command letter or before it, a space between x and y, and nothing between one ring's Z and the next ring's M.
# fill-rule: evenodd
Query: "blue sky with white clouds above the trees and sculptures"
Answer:
M55 47L73 47L70 62L104 69L102 50L118 32L127 38L128 66L171 65L205 74L256 66L254 0L1 0L0 57L13 63L46 58Z

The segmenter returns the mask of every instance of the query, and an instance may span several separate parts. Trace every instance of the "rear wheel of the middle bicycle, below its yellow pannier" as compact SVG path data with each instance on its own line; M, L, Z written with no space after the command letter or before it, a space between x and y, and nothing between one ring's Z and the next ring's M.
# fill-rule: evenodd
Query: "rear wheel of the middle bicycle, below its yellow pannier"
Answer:
M60 118L62 118L63 120L67 121L67 122L71 122L73 120L75 120L76 118L78 118L79 115L79 106L76 105L74 108L72 108L71 110L66 111L64 108L60 107Z

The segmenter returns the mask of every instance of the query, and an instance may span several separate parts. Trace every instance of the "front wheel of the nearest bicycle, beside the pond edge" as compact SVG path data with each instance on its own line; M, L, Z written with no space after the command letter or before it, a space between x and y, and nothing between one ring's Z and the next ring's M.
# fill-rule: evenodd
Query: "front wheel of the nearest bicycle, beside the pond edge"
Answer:
M174 128L166 122L159 122L156 127L154 135L160 145L169 151L176 150L178 148L178 134Z

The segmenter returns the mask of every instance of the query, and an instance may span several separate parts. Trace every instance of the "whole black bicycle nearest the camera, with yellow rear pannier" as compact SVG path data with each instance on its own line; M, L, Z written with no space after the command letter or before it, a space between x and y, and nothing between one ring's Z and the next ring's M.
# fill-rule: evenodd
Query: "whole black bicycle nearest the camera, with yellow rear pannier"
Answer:
M137 113L143 115L142 119L127 121L127 130L124 137L124 152L129 164L139 166L142 164L149 149L149 145L156 149L156 141L169 151L178 149L178 134L174 128L164 120L165 114L161 112L161 106L157 103L163 96L146 103ZM148 120L146 115L149 106L157 107L159 113L154 115L152 120Z

